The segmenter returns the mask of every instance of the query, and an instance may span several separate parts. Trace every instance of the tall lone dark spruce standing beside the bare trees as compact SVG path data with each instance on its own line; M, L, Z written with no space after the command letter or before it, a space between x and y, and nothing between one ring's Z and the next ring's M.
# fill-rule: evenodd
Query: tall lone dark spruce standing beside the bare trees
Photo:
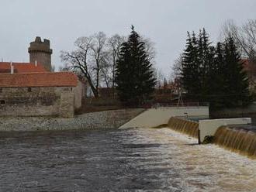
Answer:
M124 105L143 105L154 92L156 79L145 43L139 34L132 32L123 43L119 60L116 61L116 90Z

